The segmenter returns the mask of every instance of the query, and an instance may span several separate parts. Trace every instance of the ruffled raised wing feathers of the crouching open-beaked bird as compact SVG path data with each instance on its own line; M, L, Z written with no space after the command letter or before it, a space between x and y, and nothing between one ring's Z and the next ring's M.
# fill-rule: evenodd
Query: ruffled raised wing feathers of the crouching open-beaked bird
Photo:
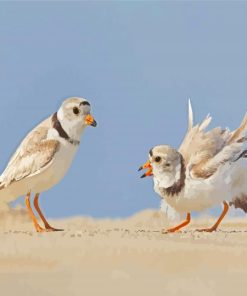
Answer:
M185 165L194 178L208 178L226 161L234 158L246 140L247 114L240 127L233 132L214 128L205 131L211 117L208 115L200 124L193 126L193 112L189 102L189 127L179 148Z

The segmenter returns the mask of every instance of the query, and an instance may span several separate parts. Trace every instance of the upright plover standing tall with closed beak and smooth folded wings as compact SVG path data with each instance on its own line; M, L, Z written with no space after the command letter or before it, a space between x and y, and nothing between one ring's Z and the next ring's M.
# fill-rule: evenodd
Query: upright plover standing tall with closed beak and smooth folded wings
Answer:
M26 195L26 207L38 232L59 230L51 227L41 212L39 195L64 177L85 127L97 125L90 109L89 102L83 98L65 100L56 113L24 138L0 176L0 202L8 203ZM45 228L38 224L31 208L31 193L35 194L34 207Z

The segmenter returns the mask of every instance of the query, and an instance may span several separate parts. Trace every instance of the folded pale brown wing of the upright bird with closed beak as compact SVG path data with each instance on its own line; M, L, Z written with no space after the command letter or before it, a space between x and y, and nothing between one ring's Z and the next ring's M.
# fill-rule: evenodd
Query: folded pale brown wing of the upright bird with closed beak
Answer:
M46 169L59 150L59 141L47 139L49 121L33 129L20 144L0 177L1 188Z

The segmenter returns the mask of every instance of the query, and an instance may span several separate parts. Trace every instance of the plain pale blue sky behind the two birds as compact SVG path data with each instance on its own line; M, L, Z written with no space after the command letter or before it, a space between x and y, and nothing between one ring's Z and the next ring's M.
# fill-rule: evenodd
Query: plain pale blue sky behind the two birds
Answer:
M158 208L137 169L161 143L178 147L208 112L235 128L247 110L247 3L1 2L0 168L69 96L88 128L65 179L41 197L48 216L127 216Z

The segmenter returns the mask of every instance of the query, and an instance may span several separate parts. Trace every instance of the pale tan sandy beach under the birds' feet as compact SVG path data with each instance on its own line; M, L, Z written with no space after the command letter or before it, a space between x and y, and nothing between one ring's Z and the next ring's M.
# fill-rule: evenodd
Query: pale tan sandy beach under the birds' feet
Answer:
M161 234L159 212L128 219L53 220L63 232L36 233L24 210L1 216L1 295L233 295L246 290L247 220L215 233Z

